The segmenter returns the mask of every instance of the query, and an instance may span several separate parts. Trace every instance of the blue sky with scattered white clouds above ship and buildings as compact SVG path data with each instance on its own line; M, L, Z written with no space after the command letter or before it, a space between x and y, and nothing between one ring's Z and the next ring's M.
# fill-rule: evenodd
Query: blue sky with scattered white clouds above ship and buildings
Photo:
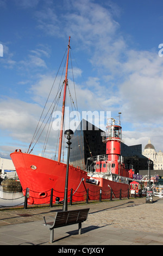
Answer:
M80 113L122 112L127 145L143 149L151 138L163 151L162 1L0 0L0 8L0 156L27 150L69 35Z

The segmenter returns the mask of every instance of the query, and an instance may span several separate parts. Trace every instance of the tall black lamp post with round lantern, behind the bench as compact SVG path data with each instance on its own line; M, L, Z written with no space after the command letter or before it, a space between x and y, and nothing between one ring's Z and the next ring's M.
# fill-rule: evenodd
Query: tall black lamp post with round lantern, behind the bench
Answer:
M72 130L66 130L65 131L65 138L68 139L66 142L68 147L67 151L67 167L66 167L66 181L65 181L65 194L64 194L64 204L63 204L63 211L67 211L67 190L68 190L68 168L69 168L69 158L70 158L70 139L73 137L73 131Z

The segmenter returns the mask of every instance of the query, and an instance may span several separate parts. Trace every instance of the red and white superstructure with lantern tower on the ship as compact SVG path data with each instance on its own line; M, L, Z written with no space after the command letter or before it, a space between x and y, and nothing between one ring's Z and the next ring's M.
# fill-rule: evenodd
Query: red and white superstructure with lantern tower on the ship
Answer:
M129 184L133 179L133 166L125 168L121 155L121 143L124 142L120 121L108 119L106 132L102 133L102 141L106 144L106 154L89 157L86 170L91 179L104 178L107 180Z

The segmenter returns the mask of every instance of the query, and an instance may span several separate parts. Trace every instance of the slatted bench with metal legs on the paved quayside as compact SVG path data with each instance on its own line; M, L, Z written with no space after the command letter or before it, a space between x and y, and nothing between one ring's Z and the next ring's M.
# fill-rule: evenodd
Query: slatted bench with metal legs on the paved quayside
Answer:
M47 222L45 216L43 216L45 221L44 225L51 231L50 242L52 243L54 240L54 228L65 227L66 225L78 224L78 233L80 235L82 233L82 222L86 221L89 210L89 208L86 208L71 211L59 211L53 218L53 222Z

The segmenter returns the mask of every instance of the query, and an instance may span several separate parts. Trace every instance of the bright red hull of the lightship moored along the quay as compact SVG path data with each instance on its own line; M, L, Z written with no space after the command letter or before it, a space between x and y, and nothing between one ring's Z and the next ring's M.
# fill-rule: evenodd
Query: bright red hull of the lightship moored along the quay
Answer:
M66 164L45 157L15 151L10 154L14 162L18 178L20 179L23 194L29 188L28 204L46 204L50 202L51 189L54 191L54 198L64 199ZM34 169L33 169L34 168ZM128 184L110 181L103 178L96 178L98 185L86 182L85 170L70 165L68 170L68 200L70 191L73 189L73 202L80 202L86 199L87 188L90 190L89 199L98 200L99 191L102 190L102 198L110 198L110 188L115 197L120 197L116 191L122 189L123 197L127 197Z

